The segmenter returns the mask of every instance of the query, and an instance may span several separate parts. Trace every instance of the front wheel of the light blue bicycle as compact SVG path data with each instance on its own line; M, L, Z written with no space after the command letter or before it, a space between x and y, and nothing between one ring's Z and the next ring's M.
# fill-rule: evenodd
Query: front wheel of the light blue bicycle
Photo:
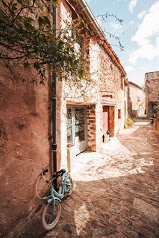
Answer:
M59 201L55 200L55 205L53 203L48 203L42 211L42 225L45 230L52 230L58 223L61 216L61 204Z

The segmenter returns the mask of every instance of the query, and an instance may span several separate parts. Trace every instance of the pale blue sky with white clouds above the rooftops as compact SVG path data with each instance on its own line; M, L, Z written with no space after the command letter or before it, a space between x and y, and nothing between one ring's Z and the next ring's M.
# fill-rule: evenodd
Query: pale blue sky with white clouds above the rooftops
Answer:
M128 80L143 86L145 73L159 71L159 0L85 1L119 57ZM106 13L114 16L106 18ZM109 33L119 37L124 50Z

